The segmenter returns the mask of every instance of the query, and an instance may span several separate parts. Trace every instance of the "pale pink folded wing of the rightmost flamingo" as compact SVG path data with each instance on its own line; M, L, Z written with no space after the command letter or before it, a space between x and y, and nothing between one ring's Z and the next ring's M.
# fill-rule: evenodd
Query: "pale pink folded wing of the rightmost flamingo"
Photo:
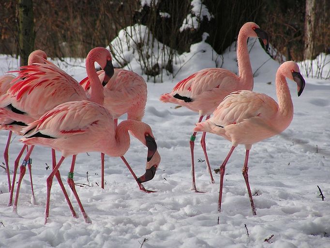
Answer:
M237 91L227 95L213 112L212 122L226 126L254 117L270 118L277 113L278 104L270 96L252 91Z

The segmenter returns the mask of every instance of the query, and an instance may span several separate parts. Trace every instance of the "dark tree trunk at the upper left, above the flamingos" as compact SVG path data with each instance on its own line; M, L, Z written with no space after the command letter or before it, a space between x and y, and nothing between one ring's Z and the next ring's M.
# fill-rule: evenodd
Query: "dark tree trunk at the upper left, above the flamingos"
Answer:
M18 0L19 55L20 66L28 64L30 53L34 50L33 1Z

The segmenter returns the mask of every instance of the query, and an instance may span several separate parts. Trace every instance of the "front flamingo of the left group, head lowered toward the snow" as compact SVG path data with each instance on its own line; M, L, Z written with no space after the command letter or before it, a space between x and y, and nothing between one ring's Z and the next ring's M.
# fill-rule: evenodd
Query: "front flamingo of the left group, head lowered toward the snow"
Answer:
M49 216L50 189L53 177L66 156L73 155L68 184L87 223L91 223L91 221L80 202L73 181L75 156L78 153L98 151L109 156L120 156L132 172L140 189L143 190L145 189L141 183L154 177L160 162L157 144L148 124L127 120L122 121L116 127L111 113L104 107L90 101L83 100L61 104L45 113L38 121L29 124L23 131L26 133L24 138L21 139L23 143L32 145L32 147L34 145L48 146L62 153L60 161L47 178L45 223ZM146 173L140 178L135 176L123 157L130 147L128 131L148 147ZM30 153L31 149L27 157L30 156Z

